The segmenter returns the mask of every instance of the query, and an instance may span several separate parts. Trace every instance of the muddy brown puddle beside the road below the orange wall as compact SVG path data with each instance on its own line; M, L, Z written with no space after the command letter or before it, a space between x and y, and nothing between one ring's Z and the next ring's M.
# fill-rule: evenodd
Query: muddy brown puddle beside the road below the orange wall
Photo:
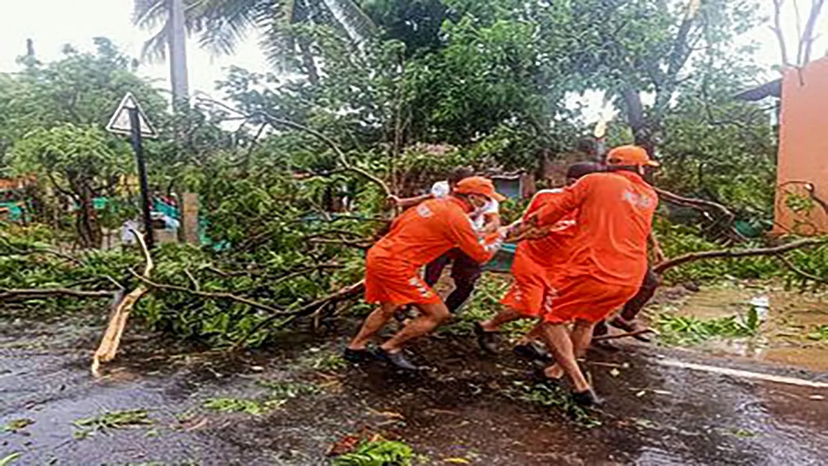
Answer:
M751 300L767 297L769 308L759 332L754 337L717 337L700 343L698 348L720 356L749 357L759 361L777 362L786 366L802 366L812 371L828 371L828 339L814 341L809 333L828 325L828 295L799 294L777 285L720 285L700 289L696 293L664 294L679 299L655 300L648 316L670 313L700 319L744 316Z

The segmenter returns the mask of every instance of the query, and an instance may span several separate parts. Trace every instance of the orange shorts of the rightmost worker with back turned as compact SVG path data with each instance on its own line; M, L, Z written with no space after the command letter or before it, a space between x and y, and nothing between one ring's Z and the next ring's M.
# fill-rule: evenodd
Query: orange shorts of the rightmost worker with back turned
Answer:
M589 276L566 277L558 282L544 306L547 323L585 320L597 323L623 306L638 286L606 284Z

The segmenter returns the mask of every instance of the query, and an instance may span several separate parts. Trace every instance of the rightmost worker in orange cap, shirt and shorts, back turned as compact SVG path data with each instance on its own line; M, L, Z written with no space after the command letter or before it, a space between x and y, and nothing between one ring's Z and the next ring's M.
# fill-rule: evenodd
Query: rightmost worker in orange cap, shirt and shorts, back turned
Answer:
M566 274L556 279L536 332L556 360L538 378L558 384L564 375L569 376L573 397L580 405L600 401L576 357L590 346L595 324L638 292L647 273L647 237L658 204L656 192L644 181L647 167L658 163L643 148L614 148L607 160L609 172L580 178L516 229L554 225L577 211L579 228L570 246Z

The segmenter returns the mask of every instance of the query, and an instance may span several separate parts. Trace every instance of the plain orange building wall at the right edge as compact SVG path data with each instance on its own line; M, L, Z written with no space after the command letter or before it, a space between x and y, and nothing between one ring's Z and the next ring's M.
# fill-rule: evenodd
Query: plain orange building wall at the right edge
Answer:
M828 211L811 199L807 183L828 201L828 57L782 78L775 232L828 233Z

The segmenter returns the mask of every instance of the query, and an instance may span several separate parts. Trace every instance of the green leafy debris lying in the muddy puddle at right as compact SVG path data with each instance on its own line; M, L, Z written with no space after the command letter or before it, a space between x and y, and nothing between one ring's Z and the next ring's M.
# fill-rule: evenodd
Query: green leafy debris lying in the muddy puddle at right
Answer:
M700 319L692 316L661 314L656 326L661 341L668 345L696 345L713 337L752 337L758 332L758 313L750 308L741 317Z

